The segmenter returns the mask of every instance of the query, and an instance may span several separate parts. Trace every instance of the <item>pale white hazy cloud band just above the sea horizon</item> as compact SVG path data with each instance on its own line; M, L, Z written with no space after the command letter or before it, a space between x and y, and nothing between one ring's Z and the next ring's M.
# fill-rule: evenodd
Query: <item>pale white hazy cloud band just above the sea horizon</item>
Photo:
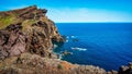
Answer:
M54 22L132 22L125 12L91 9L48 9L47 16Z

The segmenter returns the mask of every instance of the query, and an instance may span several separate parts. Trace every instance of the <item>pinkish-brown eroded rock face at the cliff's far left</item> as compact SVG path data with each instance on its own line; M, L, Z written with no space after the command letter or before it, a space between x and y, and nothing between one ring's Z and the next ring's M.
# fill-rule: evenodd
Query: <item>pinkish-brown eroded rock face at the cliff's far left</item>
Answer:
M25 36L21 29L22 26L19 23L0 30L0 59L18 55L25 51Z

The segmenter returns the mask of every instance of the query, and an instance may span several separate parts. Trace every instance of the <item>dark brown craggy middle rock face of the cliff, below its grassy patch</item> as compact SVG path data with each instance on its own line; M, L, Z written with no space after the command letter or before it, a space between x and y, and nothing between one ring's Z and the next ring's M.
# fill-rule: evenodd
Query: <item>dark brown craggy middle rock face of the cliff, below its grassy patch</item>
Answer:
M53 24L46 24L45 22L38 21L33 23L31 27L25 33L28 36L28 50L31 53L36 53L42 57L52 58L53 49L53 37L57 37L56 41L63 40L61 36L55 36L54 34L55 26ZM32 33L32 34L30 34Z

